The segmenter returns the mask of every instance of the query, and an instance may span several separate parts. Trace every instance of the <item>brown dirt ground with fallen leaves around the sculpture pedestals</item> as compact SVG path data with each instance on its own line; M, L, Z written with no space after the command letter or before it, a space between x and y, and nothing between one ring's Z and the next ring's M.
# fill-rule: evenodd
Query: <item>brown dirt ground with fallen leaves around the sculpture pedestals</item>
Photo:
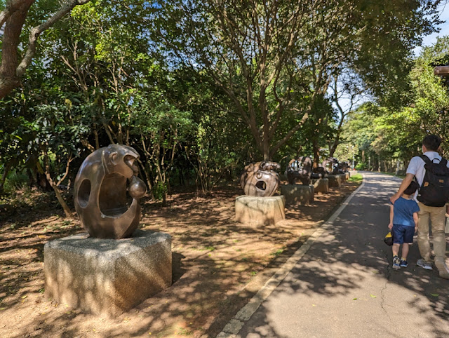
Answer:
M172 236L173 285L113 319L46 299L43 245L85 231L51 194L28 192L0 205L0 335L215 337L356 187L316 194L313 205L287 207L285 220L257 228L234 222L237 184L210 198L173 194L165 207L142 201L142 229Z

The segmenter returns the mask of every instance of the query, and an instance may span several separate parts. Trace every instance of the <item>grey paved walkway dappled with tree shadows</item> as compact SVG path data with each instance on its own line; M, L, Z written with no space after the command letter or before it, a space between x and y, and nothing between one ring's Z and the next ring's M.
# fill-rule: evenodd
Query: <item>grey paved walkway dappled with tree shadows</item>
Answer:
M218 337L449 337L449 280L415 266L416 243L408 268L393 271L382 241L388 198L401 181L363 174L363 186L311 238L309 250Z

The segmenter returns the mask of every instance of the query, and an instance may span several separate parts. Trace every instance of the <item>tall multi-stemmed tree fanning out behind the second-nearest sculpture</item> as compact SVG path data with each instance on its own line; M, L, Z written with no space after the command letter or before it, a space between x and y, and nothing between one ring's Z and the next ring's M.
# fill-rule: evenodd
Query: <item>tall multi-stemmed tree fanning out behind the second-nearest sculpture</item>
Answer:
M160 2L151 31L173 62L210 74L269 159L300 130L339 69L384 87L419 35L431 32L426 15L439 2ZM280 128L290 116L295 123Z

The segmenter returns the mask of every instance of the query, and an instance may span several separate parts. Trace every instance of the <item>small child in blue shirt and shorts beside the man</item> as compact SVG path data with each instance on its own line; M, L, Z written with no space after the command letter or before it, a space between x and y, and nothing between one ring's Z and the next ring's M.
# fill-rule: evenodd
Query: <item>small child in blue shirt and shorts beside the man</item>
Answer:
M416 201L413 199L415 191L419 188L417 182L412 181L410 185L404 190L401 197L399 197L394 205L390 202L390 224L388 228L393 235L393 266L395 270L402 267L407 267L408 244L413 243L413 234L417 230L418 224L418 207ZM402 255L399 259L399 248L402 244Z

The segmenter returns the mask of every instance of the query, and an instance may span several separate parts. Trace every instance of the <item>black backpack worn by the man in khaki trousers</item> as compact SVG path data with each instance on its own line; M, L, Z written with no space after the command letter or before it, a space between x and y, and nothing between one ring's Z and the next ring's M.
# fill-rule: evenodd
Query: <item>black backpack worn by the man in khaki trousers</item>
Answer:
M449 201L449 168L448 160L441 158L441 161L434 163L430 159L421 155L424 160L426 173L417 200L429 207L442 207ZM434 158L434 161L438 159Z

